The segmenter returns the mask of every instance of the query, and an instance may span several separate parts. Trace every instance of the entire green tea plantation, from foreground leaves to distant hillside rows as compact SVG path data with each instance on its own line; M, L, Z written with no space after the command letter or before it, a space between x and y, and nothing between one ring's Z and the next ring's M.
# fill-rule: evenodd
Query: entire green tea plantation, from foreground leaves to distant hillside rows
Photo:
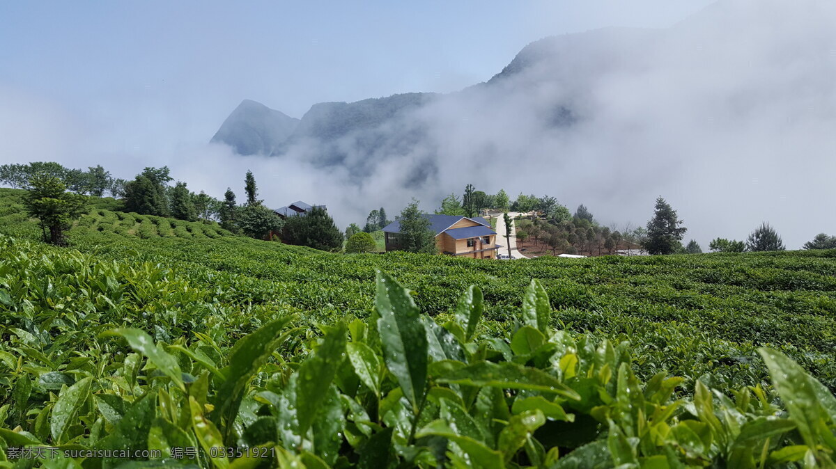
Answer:
M0 189L6 456L757 467L827 466L836 451L836 251L334 255L112 199L58 249L37 241L21 194ZM269 458L241 453L257 447Z

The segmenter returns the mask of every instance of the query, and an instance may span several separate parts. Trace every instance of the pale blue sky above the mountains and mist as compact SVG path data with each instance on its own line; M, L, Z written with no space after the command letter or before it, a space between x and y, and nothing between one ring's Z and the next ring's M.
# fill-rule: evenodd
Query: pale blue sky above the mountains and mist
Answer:
M318 102L449 92L538 38L667 27L708 3L5 2L0 99L72 119L103 151L206 141L243 98L301 117Z

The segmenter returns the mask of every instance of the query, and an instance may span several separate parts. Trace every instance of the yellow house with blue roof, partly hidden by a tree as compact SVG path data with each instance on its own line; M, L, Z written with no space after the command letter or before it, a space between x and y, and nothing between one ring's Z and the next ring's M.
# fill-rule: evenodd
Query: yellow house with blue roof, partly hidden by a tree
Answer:
M457 215L421 215L430 220L430 229L436 234L436 246L441 253L456 257L473 259L496 259L497 232L482 217L464 217ZM394 221L387 224L383 232L386 236L386 250L400 250L400 224Z

